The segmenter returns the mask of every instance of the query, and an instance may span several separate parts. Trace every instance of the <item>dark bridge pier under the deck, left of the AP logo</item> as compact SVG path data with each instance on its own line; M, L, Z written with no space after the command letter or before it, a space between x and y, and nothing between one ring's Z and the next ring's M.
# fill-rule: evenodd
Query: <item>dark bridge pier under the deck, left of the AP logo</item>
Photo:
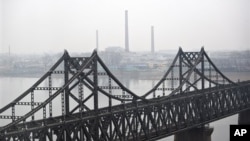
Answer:
M195 127L175 134L174 141L211 141L213 128Z

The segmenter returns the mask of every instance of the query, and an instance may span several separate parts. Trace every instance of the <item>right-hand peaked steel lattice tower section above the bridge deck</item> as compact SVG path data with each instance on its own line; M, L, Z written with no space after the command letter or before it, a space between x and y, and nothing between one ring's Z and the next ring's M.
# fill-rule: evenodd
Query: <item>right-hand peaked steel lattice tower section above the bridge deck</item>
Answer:
M183 52L180 48L162 79L143 97L171 96L233 83L213 64L204 48L200 52Z

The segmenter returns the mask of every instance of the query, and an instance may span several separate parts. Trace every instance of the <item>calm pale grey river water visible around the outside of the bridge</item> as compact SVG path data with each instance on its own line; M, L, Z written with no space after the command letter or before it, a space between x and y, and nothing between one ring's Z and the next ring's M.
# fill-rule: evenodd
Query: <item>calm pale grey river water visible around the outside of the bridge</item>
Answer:
M224 73L227 77L229 77L233 81L244 81L250 80L249 72L228 72ZM0 108L14 100L17 96L27 90L30 86L32 86L39 78L38 77L7 77L0 76ZM134 91L135 93L145 93L147 90L151 89L154 84L156 84L156 80L140 80L131 78L129 80L126 79L127 86L129 89ZM0 121L1 122L1 121ZM212 141L229 141L229 125L237 124L238 115L234 115L210 124L210 127L214 128L214 132L212 134ZM0 123L2 125L3 123ZM170 136L160 141L173 141L174 137Z

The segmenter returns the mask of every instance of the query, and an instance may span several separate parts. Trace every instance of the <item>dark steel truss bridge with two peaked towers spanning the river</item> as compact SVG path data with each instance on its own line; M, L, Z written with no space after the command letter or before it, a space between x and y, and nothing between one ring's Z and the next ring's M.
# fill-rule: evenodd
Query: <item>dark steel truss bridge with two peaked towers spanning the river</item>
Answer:
M126 76L125 76L126 77ZM123 85L97 52L67 51L34 85L0 109L0 140L160 139L250 108L250 81L232 82L202 48L180 48L147 93Z

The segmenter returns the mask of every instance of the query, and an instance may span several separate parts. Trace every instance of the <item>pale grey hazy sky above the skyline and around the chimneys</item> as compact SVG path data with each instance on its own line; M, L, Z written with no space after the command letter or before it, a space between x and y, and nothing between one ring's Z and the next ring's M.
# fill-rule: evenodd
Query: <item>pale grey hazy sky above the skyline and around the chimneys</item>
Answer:
M249 0L0 0L0 53L250 49Z

